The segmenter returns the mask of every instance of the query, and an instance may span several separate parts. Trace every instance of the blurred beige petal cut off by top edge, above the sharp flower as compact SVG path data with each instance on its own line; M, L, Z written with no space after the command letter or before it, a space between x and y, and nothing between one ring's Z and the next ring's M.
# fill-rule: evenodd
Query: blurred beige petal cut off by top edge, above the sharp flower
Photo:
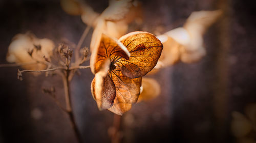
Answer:
M132 0L111 0L109 7L102 12L100 17L110 21L123 19L132 7L131 1Z

